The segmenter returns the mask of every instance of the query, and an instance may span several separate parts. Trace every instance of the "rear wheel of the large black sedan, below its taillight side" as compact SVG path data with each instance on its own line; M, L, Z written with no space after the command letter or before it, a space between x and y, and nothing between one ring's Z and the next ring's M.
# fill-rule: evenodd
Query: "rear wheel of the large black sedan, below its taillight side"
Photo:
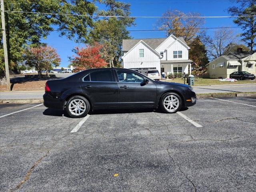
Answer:
M83 96L73 96L66 103L66 112L72 118L81 118L90 110L89 101Z

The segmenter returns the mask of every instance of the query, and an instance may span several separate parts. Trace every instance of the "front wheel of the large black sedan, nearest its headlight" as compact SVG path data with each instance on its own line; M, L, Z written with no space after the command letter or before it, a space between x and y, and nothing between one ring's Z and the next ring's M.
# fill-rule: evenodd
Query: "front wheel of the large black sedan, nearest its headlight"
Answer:
M162 95L160 106L161 109L166 113L176 113L182 107L182 99L178 94L174 92L168 92Z

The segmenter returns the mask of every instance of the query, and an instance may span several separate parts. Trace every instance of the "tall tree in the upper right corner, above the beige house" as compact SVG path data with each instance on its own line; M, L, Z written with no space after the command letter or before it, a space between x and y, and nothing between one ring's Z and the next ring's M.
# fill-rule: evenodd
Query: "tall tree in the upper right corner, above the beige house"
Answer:
M241 1L237 0L237 2L241 2L244 6L232 6L228 8L228 12L234 16L251 16L251 17L238 17L233 20L235 24L241 26L242 30L244 31L241 36L243 37L242 40L250 47L252 51L253 48L256 46L255 38L256 38L256 1L249 0L249 1ZM248 7L246 7L248 6Z

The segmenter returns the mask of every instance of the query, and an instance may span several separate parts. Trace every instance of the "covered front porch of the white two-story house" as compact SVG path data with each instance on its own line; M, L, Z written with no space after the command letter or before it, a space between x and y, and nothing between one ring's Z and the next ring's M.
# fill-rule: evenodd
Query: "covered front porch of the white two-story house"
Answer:
M166 74L186 73L191 74L192 60L161 60L161 73Z

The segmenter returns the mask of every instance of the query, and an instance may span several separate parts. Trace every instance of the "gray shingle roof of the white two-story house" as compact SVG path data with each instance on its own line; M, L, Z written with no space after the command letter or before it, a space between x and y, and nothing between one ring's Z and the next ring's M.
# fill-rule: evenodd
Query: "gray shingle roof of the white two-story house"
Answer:
M184 42L185 40L182 37L179 37L179 39ZM150 46L152 49L156 49L166 38L151 38L151 39L123 39L123 51L129 51L131 48L133 48L140 40L143 40L148 46ZM186 44L187 45L187 44Z

